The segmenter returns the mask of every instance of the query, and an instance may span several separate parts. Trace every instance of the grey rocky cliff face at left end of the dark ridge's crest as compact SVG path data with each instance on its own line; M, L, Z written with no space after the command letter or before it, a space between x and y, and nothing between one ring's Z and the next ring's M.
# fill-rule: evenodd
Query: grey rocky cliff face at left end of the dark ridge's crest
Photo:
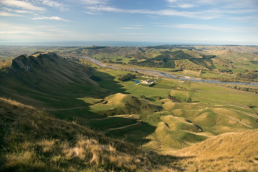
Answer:
M18 57L14 58L11 66L10 66L10 69L13 71L15 70L14 66L18 66L19 68L23 69L24 71L31 71L30 59L28 57L26 57L25 55L19 55Z

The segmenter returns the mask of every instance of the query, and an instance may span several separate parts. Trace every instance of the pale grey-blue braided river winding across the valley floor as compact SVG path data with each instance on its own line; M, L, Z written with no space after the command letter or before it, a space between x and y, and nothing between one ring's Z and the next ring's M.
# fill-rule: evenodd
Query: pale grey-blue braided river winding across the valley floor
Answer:
M94 61L94 63L98 64L101 67L107 67L107 68L112 68L112 69L120 69L118 67L115 66L107 66L106 64L103 64L101 62L99 62L97 59L92 59L90 57L87 56L79 56L80 58L85 58L85 59L90 59L92 61ZM181 76L181 75L176 75L176 74L171 74L171 73L165 73L165 72L161 72L161 71L156 71L156 70L147 70L147 69L130 69L130 70L134 70L134 71L143 71L145 73L150 73L150 74L155 74L155 73L159 73L161 74L163 77L167 77L167 78L174 78L174 79L180 79L180 80L186 80L186 81L198 81L198 82L205 82L205 83L217 83L217 84L241 84L241 85L253 85L253 86L258 86L258 83L241 83L241 82L223 82L223 81L218 81L218 80L203 80L200 78L195 78L195 77L188 77L188 76Z

